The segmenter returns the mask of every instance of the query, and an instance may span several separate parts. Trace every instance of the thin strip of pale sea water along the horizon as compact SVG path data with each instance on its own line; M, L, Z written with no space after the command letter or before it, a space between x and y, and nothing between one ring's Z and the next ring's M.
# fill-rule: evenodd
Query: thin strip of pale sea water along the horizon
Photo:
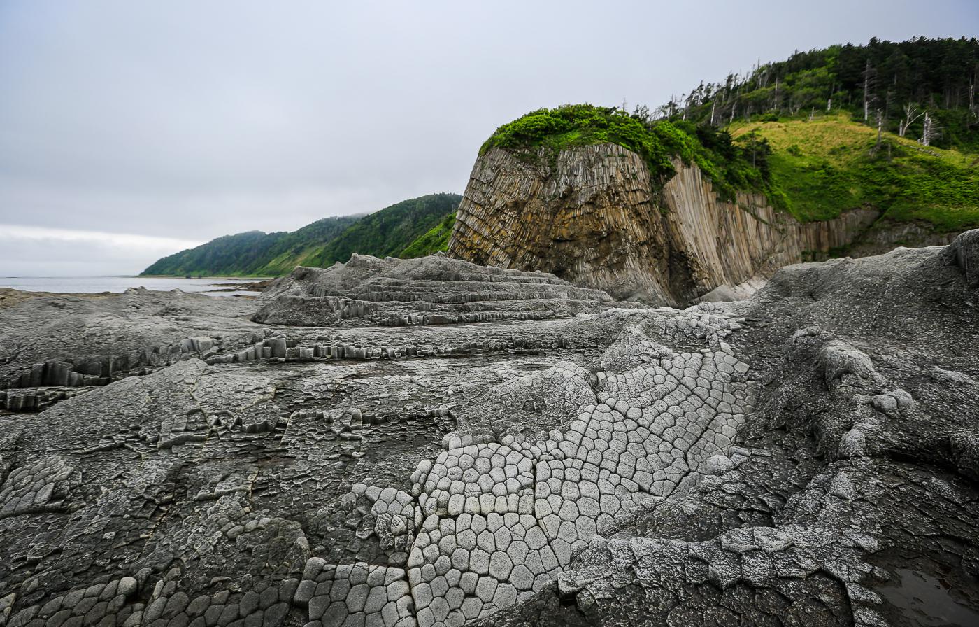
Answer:
M201 292L210 296L255 295L247 289L233 292L215 291L227 289L217 283L235 283L243 287L256 279L242 278L179 278L160 276L0 276L0 287L12 287L24 292L87 293L124 292L130 287L148 290Z

